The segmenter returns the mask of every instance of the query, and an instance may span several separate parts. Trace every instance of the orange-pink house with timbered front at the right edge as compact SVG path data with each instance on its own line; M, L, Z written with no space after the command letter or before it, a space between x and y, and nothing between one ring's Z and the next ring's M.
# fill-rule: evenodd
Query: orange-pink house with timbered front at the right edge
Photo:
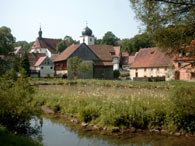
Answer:
M195 40L191 41L190 46L185 52L180 52L175 58L175 79L195 81L195 57L190 52L195 50Z

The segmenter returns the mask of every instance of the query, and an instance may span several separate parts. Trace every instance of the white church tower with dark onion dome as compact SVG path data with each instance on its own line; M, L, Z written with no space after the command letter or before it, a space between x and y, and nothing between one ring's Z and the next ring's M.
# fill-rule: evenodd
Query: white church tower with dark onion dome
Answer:
M80 37L80 44L85 43L87 45L95 44L95 37L92 34L92 30L86 26L82 31L82 36Z

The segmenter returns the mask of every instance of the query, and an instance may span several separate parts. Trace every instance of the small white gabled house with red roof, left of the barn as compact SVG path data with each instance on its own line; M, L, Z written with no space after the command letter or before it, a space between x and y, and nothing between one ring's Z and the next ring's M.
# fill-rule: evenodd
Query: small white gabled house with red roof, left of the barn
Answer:
M31 77L54 77L54 63L44 53L28 53Z

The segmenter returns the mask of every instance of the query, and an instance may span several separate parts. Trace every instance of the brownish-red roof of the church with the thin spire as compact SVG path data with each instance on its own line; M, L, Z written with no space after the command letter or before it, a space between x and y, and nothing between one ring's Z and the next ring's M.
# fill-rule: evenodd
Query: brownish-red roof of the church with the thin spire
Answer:
M56 46L62 41L61 39L50 39L50 38L37 38L32 46L32 49L47 48L52 54L57 54ZM66 41L66 45L69 46L69 42Z

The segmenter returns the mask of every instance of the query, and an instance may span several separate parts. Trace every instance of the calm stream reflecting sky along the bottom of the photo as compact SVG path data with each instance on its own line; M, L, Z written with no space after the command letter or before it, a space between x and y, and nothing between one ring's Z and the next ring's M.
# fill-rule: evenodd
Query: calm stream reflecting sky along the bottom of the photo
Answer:
M67 123L65 125L57 121L43 118L39 140L44 146L195 146L195 138L191 137L137 133L107 136L93 131L84 131L75 125L70 126Z

